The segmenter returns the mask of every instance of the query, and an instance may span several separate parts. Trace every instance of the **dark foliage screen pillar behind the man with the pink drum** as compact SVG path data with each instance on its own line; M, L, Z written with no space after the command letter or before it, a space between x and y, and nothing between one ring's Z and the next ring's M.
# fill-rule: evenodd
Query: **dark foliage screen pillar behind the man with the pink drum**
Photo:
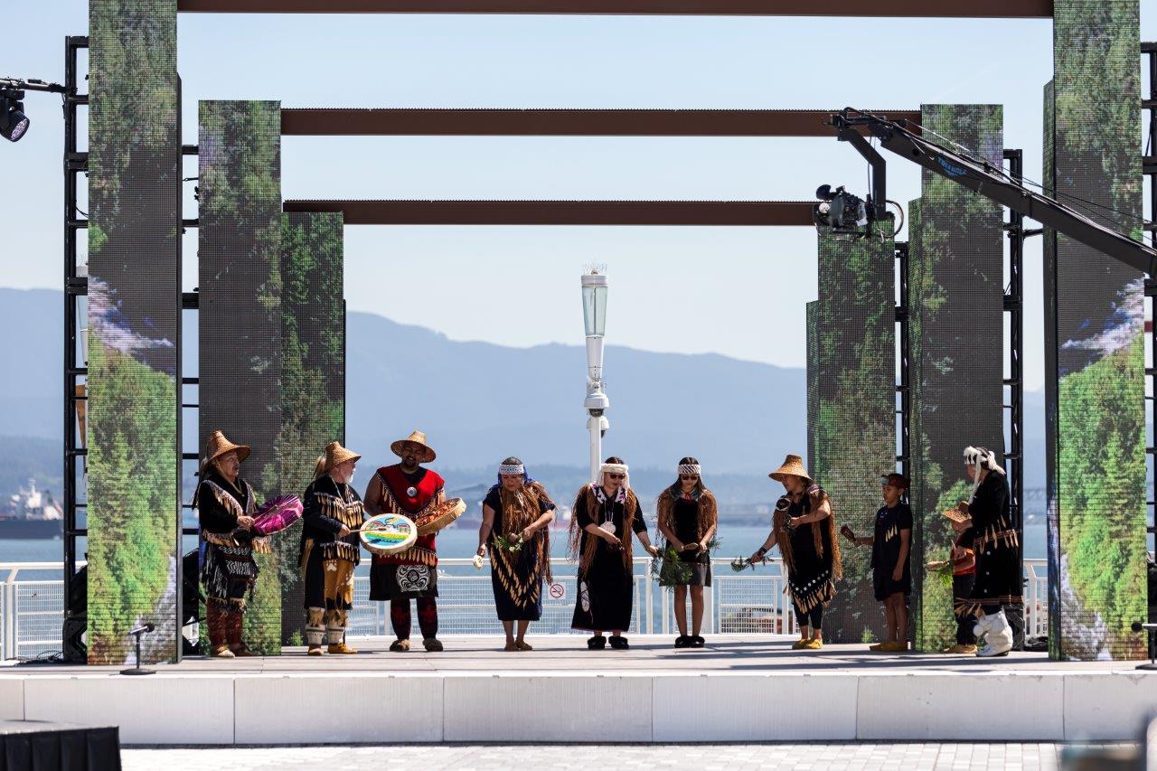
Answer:
M241 476L258 501L281 494L281 105L201 102L199 116L199 423L250 445ZM286 534L272 536L274 543ZM281 649L275 553L255 553L245 642Z

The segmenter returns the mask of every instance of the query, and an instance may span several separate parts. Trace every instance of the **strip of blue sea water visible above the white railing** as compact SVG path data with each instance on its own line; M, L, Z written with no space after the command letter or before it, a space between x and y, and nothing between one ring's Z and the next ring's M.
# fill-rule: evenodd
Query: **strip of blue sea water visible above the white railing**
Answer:
M655 537L654 523L648 522L651 537ZM746 557L756 551L767 537L767 529L751 526L728 526L725 522L718 531L720 548L713 556L716 559ZM185 536L187 552L197 548L196 536ZM83 553L84 542L78 544L78 552ZM467 527L452 527L443 530L437 537L439 556L444 558L470 559L478 549L478 530ZM551 531L551 553L566 557L567 531ZM1030 523L1025 526L1024 556L1026 559L1044 559L1046 556L1045 526ZM60 539L3 539L0 538L0 563L52 563L64 559L64 541ZM367 560L368 561L368 560ZM0 577L2 578L2 577Z

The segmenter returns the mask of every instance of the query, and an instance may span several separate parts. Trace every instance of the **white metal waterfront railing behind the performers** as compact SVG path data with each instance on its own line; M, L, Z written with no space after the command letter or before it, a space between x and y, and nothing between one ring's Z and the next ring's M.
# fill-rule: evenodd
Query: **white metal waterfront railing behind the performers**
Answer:
M78 564L78 567L82 565ZM536 634L572 633L575 580L573 563L551 560L554 585L544 587L543 617ZM364 568L364 566L363 566ZM712 560L713 586L703 590L703 632L708 634L794 634L795 614L783 593L778 559L754 571L735 573L730 561ZM60 649L64 582L60 563L0 563L0 660L32 658ZM1044 559L1024 560L1025 633L1042 636L1048 629L1048 573ZM36 574L20 580L23 573ZM51 577L51 578L50 578ZM551 589L554 589L553 592ZM634 568L633 633L675 633L672 594L657 587L650 560L636 559ZM690 593L688 593L690 594ZM687 614L691 617L690 596ZM469 559L439 561L439 624L442 634L501 634L494 615L491 578ZM354 580L352 637L391 637L385 603L369 601L369 578Z

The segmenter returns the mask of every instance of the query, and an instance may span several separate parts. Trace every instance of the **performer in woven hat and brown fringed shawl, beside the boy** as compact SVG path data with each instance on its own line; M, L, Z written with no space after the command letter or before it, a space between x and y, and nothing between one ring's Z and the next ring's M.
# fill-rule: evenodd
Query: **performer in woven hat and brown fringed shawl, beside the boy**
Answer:
M767 476L781 483L787 494L775 504L771 535L750 559L762 560L779 544L799 624L799 639L791 647L818 651L824 647L824 608L835 596L835 581L843 578L832 501L798 455L788 455Z

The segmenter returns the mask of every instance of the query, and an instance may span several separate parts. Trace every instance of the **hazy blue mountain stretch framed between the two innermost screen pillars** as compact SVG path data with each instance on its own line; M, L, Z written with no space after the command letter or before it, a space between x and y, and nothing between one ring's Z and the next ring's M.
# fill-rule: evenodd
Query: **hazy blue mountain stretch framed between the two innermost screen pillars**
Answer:
M447 468L582 467L588 457L585 351L457 343L381 316L349 314L346 427L371 463L425 431ZM805 445L802 369L721 355L606 351L611 429L604 455L673 469L694 455L706 469L766 473Z

